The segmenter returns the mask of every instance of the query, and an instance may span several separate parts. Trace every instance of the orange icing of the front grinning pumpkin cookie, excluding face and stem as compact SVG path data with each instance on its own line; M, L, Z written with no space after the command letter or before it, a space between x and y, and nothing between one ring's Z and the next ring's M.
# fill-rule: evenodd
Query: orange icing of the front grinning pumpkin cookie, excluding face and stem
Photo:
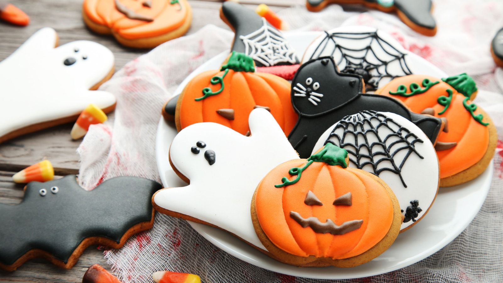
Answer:
M313 162L305 169L300 180L292 185L275 187L282 183L293 167L303 167L306 160L285 162L273 169L257 187L255 207L261 228L278 248L297 256L353 257L372 248L388 233L393 222L393 204L386 189L361 170L330 166ZM307 205L304 199L308 191L323 205ZM353 204L333 205L333 201L348 192ZM344 235L315 233L310 227L303 228L290 211L304 219L316 217L322 223L327 219L336 225L352 220L363 220L360 228Z

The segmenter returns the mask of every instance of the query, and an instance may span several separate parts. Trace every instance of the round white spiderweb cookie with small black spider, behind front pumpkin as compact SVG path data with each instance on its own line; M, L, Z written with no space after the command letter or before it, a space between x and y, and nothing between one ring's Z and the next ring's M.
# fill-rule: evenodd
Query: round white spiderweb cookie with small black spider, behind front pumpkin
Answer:
M439 162L425 133L394 113L363 111L344 117L318 139L313 153L332 143L349 154L348 166L379 176L396 195L403 232L418 223L439 187Z

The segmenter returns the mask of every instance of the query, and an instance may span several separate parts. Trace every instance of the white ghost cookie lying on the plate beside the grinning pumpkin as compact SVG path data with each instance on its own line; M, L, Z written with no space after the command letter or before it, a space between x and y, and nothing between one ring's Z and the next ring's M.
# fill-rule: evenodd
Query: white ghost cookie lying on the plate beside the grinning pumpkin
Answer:
M180 131L169 158L190 184L162 189L152 203L160 213L218 227L265 252L251 224L251 197L267 172L299 157L267 110L251 111L249 127L250 136L216 123Z

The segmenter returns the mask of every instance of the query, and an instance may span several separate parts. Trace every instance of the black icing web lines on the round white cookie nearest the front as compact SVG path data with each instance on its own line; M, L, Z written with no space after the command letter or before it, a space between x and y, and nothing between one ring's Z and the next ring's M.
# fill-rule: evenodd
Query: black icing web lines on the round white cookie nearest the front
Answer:
M407 185L401 170L407 158L414 153L424 159L414 147L415 143L423 143L422 139L393 119L375 111L362 111L344 117L332 129L326 143L348 151L350 161L358 169L371 165L377 176L383 171L395 173L404 187ZM399 155L402 151L406 151L405 155Z

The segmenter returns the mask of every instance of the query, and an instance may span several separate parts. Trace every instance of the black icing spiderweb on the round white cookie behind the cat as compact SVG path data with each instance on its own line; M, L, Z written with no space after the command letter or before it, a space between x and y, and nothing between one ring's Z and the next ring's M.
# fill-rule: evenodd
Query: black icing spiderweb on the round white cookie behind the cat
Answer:
M383 78L411 75L404 53L382 39L377 31L325 32L310 59L331 55L343 73L363 77L368 89L377 89Z

